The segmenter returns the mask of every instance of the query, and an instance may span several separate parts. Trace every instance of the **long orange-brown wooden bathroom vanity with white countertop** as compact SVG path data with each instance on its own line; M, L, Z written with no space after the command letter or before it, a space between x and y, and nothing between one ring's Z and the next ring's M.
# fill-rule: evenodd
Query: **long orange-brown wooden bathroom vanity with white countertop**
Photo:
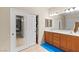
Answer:
M79 52L79 33L69 30L45 30L44 40L66 52Z

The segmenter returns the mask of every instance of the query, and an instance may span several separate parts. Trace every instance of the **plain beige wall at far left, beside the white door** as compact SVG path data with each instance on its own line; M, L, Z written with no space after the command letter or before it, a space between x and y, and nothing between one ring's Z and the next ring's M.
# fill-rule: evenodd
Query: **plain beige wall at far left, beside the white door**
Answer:
M0 8L0 51L10 48L10 15L9 8Z

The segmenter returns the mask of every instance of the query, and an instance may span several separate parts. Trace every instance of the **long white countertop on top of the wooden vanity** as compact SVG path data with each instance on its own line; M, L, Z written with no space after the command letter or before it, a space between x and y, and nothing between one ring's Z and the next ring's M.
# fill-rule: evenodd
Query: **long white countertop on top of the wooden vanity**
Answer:
M45 30L45 31L61 33L61 34L67 34L67 35L72 35L72 36L79 36L79 32L74 33L71 30Z

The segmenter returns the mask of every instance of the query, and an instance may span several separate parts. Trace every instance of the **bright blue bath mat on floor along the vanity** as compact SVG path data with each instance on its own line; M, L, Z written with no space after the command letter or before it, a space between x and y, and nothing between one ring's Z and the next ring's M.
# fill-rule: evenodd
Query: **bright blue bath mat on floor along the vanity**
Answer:
M46 42L41 44L41 46L45 48L46 50L48 50L49 52L63 52L63 50L56 48L55 46L52 46Z

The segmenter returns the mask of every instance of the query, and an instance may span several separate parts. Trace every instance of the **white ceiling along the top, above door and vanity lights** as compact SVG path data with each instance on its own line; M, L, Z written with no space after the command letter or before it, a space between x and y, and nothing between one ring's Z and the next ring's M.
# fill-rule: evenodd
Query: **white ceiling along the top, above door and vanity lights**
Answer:
M23 10L31 10L32 12L48 12L48 14L53 14L53 13L57 13L57 14L60 14L60 13L63 13L65 9L68 9L70 7L17 7L19 9L23 9Z

